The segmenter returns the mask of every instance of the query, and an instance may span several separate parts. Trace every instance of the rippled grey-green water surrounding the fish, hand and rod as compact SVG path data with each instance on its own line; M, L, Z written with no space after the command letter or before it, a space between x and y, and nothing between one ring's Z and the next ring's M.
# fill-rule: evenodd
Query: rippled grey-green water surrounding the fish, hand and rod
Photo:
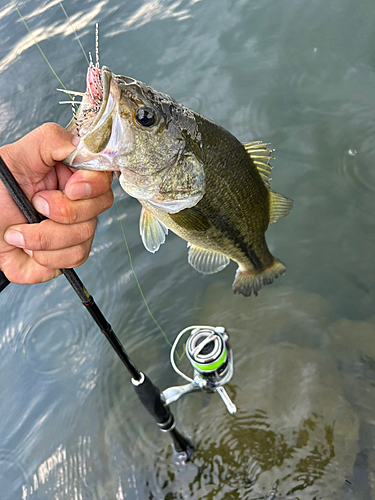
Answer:
M67 88L86 61L57 1L19 7ZM235 355L229 415L216 395L173 405L196 452L175 464L167 436L63 277L0 295L0 491L6 500L375 498L373 3L65 0L86 51L276 148L272 187L295 201L269 228L287 274L245 299L236 266L202 276L173 234L155 254L140 207L100 217L79 275L137 365L182 383L139 296L118 219L150 307L170 341L225 325ZM45 121L66 125L60 85L12 6L0 10L1 144Z

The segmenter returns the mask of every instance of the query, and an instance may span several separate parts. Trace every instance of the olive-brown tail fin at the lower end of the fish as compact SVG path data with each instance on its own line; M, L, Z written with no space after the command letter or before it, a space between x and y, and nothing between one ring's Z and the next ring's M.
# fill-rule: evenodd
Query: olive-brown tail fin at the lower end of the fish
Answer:
M286 267L282 262L274 259L273 263L262 271L251 272L237 269L233 283L233 292L250 297L258 295L262 286L270 285L275 278L285 273Z

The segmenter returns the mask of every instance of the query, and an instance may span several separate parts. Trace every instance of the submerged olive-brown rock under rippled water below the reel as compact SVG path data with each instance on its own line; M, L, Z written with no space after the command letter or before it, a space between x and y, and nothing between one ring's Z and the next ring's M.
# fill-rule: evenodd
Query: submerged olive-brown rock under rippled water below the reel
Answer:
M238 374L241 386L228 386L236 415L216 395L178 403L194 454L181 467L170 449L159 453L152 491L179 500L342 498L359 426L329 358L280 344L253 353Z

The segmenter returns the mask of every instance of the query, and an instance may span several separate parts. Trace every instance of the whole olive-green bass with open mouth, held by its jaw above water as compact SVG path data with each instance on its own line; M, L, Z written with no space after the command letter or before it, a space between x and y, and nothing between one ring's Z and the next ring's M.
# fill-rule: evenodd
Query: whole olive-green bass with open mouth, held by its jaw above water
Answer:
M115 171L142 205L140 235L156 252L171 230L203 274L238 264L233 291L245 297L284 274L268 249L270 223L293 201L270 187L273 150L229 131L167 94L91 62L86 92L66 129L81 140L71 167Z

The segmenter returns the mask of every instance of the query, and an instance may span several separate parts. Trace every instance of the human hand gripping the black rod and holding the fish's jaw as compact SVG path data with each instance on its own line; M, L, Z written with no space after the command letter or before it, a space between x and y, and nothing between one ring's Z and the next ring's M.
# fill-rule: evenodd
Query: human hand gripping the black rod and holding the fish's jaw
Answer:
M83 264L90 252L96 216L113 202L111 172L72 171L61 160L77 138L45 123L0 155L36 210L48 217L27 224L0 182L0 270L9 281L34 284ZM73 173L74 172L74 173Z

